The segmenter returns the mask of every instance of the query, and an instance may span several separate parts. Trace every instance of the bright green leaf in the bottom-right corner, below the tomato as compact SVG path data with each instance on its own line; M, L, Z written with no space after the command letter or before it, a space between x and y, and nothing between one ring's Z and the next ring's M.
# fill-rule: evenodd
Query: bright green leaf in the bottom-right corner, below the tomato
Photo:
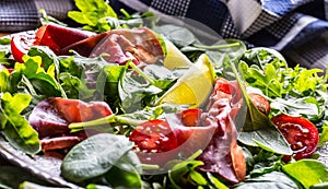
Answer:
M315 160L301 160L286 164L282 167L282 170L300 181L306 189L316 184L328 182L327 165Z

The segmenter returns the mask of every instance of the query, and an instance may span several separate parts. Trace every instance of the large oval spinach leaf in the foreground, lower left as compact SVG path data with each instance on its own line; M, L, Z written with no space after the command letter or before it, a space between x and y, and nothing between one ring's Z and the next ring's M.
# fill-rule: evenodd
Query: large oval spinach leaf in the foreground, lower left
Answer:
M124 135L99 133L77 144L61 164L61 175L82 182L104 175L130 151L133 143Z

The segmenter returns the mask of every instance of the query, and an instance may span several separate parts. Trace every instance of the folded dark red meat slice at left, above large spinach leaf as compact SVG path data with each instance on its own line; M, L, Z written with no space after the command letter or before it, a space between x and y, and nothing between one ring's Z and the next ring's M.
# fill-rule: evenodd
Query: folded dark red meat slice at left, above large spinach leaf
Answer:
M50 97L42 101L28 117L30 125L38 132L43 150L70 147L86 138L83 132L71 133L71 122L89 121L112 115L104 102L84 103L79 99Z

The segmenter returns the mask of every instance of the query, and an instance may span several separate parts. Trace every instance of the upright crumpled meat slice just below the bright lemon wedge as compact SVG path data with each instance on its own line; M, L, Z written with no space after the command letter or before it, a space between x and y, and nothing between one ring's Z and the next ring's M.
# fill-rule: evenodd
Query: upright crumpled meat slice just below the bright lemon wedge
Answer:
M235 81L216 79L206 118L206 126L214 126L216 131L198 157L204 163L200 167L201 170L219 174L232 182L243 181L246 175L245 156L237 145L237 130L234 123L243 103L239 91Z

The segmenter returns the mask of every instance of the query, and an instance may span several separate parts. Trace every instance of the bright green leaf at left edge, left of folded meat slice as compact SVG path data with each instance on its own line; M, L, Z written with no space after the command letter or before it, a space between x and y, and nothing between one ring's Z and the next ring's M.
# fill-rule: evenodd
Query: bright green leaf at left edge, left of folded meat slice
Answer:
M0 123L4 137L11 145L28 154L36 154L40 151L38 134L20 115L30 102L31 96L27 94L11 96L10 93L4 93L0 99Z

